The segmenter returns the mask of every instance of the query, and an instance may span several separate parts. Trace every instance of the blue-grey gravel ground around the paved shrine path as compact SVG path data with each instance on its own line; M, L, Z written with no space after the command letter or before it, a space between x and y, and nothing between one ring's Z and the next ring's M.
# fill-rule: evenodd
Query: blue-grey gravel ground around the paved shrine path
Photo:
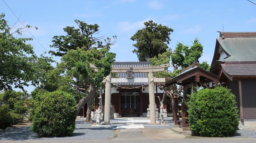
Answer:
M76 129L73 135L70 137L45 137L39 138L37 134L32 132L30 126L15 128L12 131L6 131L0 133L0 141L12 141L12 140L87 140L87 139L109 139L114 137L117 125L126 125L125 123L114 123L110 126L91 126L94 123L84 123L85 119L76 120ZM158 120L159 121L159 120ZM147 123L135 123L142 124L144 128L151 129L169 129L174 127L174 121L165 120L164 123L168 125L148 125ZM230 138L256 138L256 132L253 130L241 129L236 132L234 137Z

